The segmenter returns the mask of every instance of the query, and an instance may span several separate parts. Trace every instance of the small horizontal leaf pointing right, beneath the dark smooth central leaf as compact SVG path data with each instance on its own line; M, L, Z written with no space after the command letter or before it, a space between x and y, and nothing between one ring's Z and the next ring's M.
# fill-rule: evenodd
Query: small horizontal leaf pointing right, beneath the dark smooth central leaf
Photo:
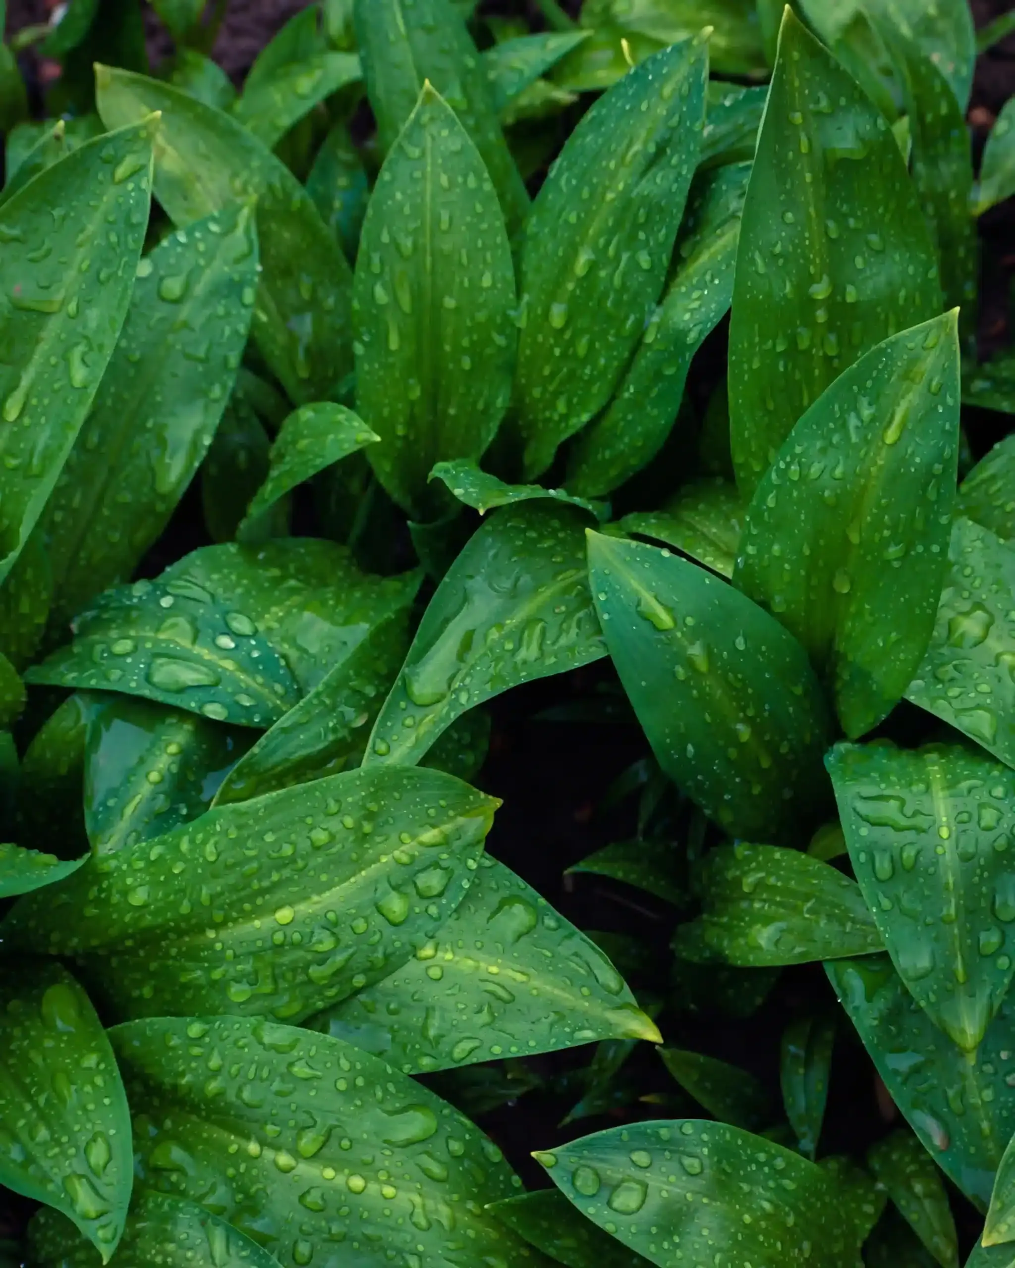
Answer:
M704 914L674 943L688 960L760 969L883 946L856 883L797 850L719 846L705 856L700 886Z

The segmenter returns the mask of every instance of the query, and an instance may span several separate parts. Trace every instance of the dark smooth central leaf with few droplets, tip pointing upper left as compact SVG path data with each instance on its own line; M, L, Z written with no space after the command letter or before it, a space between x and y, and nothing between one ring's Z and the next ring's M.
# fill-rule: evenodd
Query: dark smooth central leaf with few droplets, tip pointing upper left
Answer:
M828 719L779 623L667 550L589 533L606 647L656 760L731 834L799 832L827 796Z

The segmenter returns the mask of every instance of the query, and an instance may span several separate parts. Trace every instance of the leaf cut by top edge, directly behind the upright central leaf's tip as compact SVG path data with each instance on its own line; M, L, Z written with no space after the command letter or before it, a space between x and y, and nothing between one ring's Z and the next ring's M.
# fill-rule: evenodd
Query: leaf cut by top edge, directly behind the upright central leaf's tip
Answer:
M387 153L429 81L454 112L497 191L514 238L529 210L529 195L497 122L482 58L462 16L448 0L355 0L357 47Z

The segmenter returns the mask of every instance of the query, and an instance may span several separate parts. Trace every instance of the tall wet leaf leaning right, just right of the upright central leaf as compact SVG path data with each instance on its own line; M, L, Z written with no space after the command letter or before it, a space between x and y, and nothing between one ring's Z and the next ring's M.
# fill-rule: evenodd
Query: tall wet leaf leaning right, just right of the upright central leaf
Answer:
M582 117L539 190L521 252L514 396L527 478L606 404L655 311L707 77L702 38L656 53Z

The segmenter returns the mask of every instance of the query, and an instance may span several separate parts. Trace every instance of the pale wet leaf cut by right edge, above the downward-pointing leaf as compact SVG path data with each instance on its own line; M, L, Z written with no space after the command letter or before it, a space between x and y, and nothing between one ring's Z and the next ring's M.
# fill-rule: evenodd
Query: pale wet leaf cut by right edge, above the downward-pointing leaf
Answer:
M906 699L1015 765L1015 544L955 520L938 619Z

